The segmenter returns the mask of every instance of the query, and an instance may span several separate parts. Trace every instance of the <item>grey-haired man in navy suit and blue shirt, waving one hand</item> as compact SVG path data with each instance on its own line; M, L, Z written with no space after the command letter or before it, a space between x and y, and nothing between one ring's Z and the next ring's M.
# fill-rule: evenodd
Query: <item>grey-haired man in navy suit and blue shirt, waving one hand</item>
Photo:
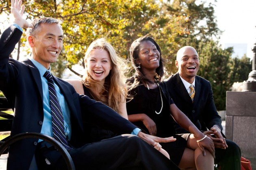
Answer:
M15 20L0 38L0 90L15 112L11 136L24 132L41 132L54 136L59 142L67 145L76 169L178 169L157 151L161 149L158 142L170 142L175 139L157 138L139 132L135 125L111 108L87 96L79 96L72 85L57 77L52 76L54 83L52 82L53 86L49 85L50 80L46 79L44 74L50 72L50 63L56 62L61 52L63 30L59 20L54 18L35 19L29 24L22 18L24 8L21 0L12 0L11 13ZM22 28L28 28L27 36L32 48L32 57L18 62L9 58L9 55L22 36ZM65 136L62 136L62 140L58 135L56 137L54 130L53 119L56 110L52 108L53 94L50 89L54 89L56 93L54 104L60 107L58 112L61 113L62 125L56 127L59 129L59 135ZM61 120L60 117L58 119ZM85 144L84 136L81 136L82 121L119 134L135 135L117 136ZM33 164L34 160L37 167ZM59 151L49 143L29 138L15 142L9 147L7 168L27 170L67 167Z

